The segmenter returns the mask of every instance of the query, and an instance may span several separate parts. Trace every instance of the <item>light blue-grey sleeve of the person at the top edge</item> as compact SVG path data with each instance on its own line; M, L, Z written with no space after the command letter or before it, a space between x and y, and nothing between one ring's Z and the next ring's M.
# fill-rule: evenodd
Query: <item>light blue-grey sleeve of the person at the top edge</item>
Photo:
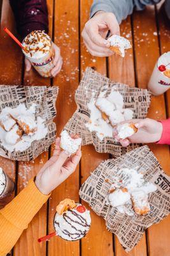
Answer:
M133 9L143 10L146 4L159 3L160 0L94 0L90 17L98 11L112 12L117 17L118 23L127 18Z

